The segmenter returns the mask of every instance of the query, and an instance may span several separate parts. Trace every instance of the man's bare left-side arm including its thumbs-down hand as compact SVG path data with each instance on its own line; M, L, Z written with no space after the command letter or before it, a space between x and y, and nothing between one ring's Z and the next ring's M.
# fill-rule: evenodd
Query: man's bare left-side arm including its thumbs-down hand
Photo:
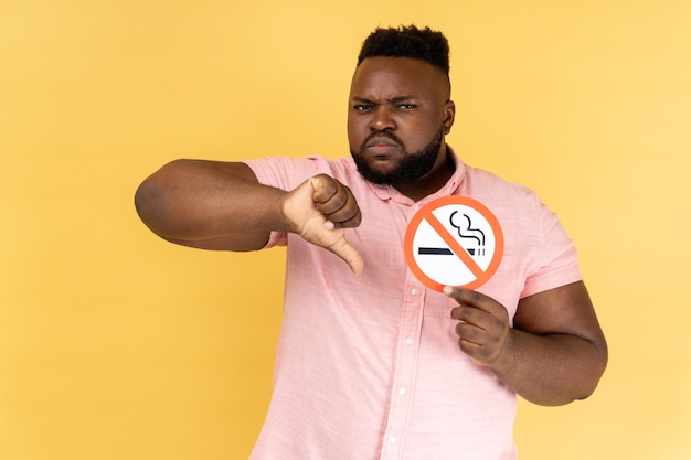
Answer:
M344 228L360 225L346 185L316 175L290 192L257 182L240 162L176 160L147 178L135 195L141 220L171 243L217 250L256 250L272 231L293 232L362 272Z

